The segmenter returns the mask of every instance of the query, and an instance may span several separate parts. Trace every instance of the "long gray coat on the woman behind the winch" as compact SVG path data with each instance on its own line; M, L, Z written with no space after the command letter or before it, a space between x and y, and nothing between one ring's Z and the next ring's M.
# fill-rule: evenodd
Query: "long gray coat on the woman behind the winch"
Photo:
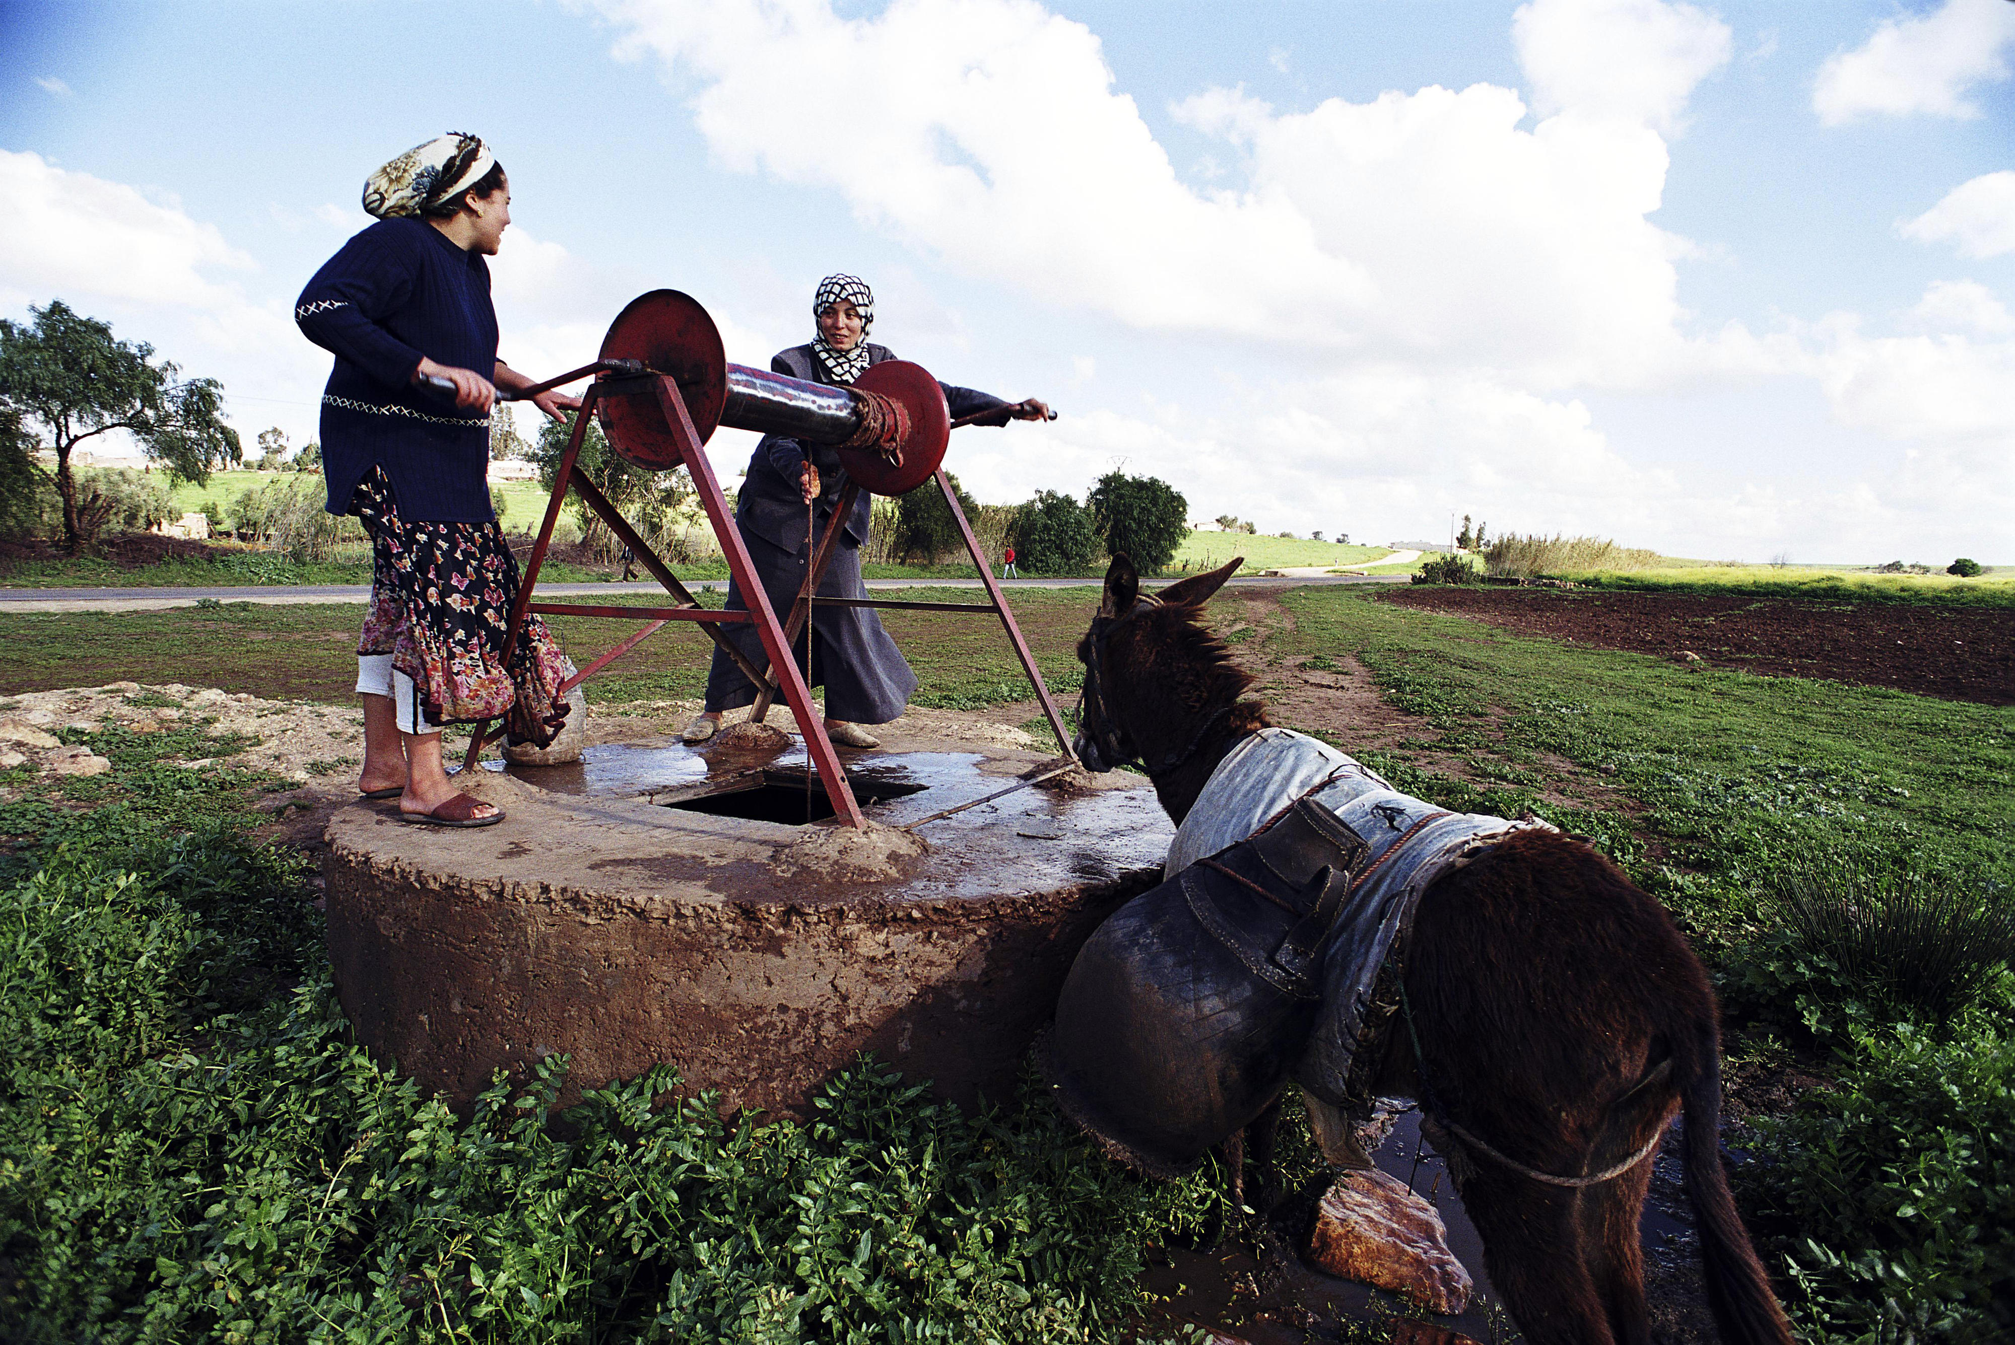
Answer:
M868 364L893 358L895 352L889 346L868 342ZM770 368L792 379L804 379L806 383L834 383L826 375L826 366L812 354L812 346L780 350L770 360ZM987 411L989 407L1008 407L999 397L975 393L973 389L939 387L945 389L945 405L951 409L951 419ZM1001 415L997 421L987 419L979 423L1005 425L1008 417ZM798 493L798 473L804 469L806 455L818 467L820 481L820 493L814 501L816 521L810 528L804 495ZM806 445L784 435L764 435L762 443L756 445L748 477L744 477L742 489L735 495L735 526L742 530L742 540L750 548L750 560L756 562L756 574L762 576L770 608L780 622L790 618L798 590L804 588L804 572L812 560L814 540L824 536L844 485L846 469L840 467L840 455L830 447ZM868 596L866 584L860 582L860 544L868 538L870 511L872 499L866 491L860 491L860 497L842 524L844 532L840 546L832 554L832 564L826 566L826 576L818 584L820 598ZM737 612L748 610L740 584L727 586L727 608ZM733 624L719 630L758 668L770 666L768 656L762 652L762 640L756 636L756 626ZM792 652L798 658L798 672L806 672L802 632ZM917 691L917 675L911 672L903 650L883 630L881 616L875 610L820 606L816 602L812 604L812 660L806 681L812 687L826 689L828 719L864 725L889 723L903 713L911 693ZM707 709L725 711L754 701L756 687L742 675L742 668L721 650L713 650L713 666L707 670Z

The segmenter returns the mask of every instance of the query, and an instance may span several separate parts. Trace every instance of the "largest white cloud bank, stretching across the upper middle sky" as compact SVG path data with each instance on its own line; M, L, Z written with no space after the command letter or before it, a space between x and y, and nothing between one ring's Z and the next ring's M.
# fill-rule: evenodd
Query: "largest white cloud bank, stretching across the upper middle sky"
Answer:
M1098 38L1032 0L897 0L858 20L814 0L602 10L621 52L667 62L723 165L836 191L870 228L1038 300L1552 383L1636 383L1676 358L1687 244L1646 219L1666 171L1648 123L1676 121L1729 44L1689 6L1529 6L1529 46L1568 107L1529 131L1519 95L1491 85L1308 113L1207 91L1175 115L1243 155L1243 185L1207 193L1112 87ZM1570 48L1576 12L1608 48ZM834 66L858 72L844 155L802 135ZM1618 66L1648 93L1596 72Z

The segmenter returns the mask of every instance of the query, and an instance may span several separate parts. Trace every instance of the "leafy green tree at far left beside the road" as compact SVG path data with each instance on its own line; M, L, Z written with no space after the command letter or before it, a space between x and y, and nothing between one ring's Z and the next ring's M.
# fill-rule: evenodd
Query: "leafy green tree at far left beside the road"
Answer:
M109 515L77 497L71 453L85 439L127 431L167 467L169 479L195 485L208 485L212 469L244 461L238 431L224 423L224 385L216 379L181 381L175 364L153 362L153 346L115 340L111 326L79 316L62 300L28 312L32 326L0 318L0 405L40 425L56 451L62 544L71 552L87 548Z

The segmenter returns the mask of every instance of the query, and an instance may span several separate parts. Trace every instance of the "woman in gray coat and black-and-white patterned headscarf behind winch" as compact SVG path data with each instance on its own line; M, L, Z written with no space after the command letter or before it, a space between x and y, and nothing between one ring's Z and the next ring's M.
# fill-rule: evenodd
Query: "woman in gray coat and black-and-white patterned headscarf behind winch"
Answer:
M866 338L875 324L875 292L858 276L826 276L812 298L818 334L810 344L780 350L770 368L808 383L852 383L870 364L893 360L889 346ZM1042 421L1050 409L1040 401L1005 403L987 393L939 385L951 419L991 411L975 425L1005 425L1008 421ZM824 536L832 509L846 485L840 457L824 445L808 445L786 435L764 435L750 459L748 477L735 497L735 526L762 576L770 608L782 618L798 600L804 572L812 560L816 536ZM929 487L923 487L929 489ZM806 528L806 505L814 505L816 526ZM860 582L860 544L868 538L872 499L866 491L854 499L842 524L840 544L832 564L818 584L820 598L866 598ZM729 584L727 608L746 610L740 586ZM756 666L766 656L756 628L750 624L721 626ZM826 737L846 747L881 747L881 739L860 725L889 723L903 713L917 691L903 650L895 646L872 608L818 606L812 612L812 650L806 666L806 642L800 634L792 650L808 685L826 689ZM721 711L756 701L756 687L721 650L713 650L707 672L707 705L685 729L687 743L703 743L721 723ZM804 727L804 725L800 725Z

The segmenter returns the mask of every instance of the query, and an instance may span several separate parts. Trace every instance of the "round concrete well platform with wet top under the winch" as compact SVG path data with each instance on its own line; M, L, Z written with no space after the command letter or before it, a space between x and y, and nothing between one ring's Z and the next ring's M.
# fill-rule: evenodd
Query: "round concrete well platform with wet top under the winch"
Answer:
M1159 882L1169 819L1138 775L1072 771L907 834L1048 759L927 739L842 755L864 834L794 826L796 741L514 767L480 781L510 813L484 830L341 809L328 950L359 1041L457 1105L556 1051L562 1103L671 1061L723 1107L802 1115L858 1051L961 1105L1008 1099L1078 946Z

